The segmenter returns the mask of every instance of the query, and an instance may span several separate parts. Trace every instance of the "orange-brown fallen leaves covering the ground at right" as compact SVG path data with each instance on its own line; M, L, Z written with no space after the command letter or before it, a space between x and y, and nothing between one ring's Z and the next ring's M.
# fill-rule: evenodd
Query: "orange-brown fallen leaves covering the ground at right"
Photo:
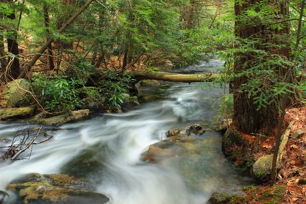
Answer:
M273 187L263 184L259 187L244 187L247 197L235 203L306 203L306 134L295 139L292 136L298 130L306 131L306 107L287 110L283 125L294 121L291 127L286 150L283 154L283 168L277 174L277 182ZM274 131L276 133L276 131ZM243 135L250 142L253 135ZM261 143L261 150L254 154L256 159L273 154L276 134Z

